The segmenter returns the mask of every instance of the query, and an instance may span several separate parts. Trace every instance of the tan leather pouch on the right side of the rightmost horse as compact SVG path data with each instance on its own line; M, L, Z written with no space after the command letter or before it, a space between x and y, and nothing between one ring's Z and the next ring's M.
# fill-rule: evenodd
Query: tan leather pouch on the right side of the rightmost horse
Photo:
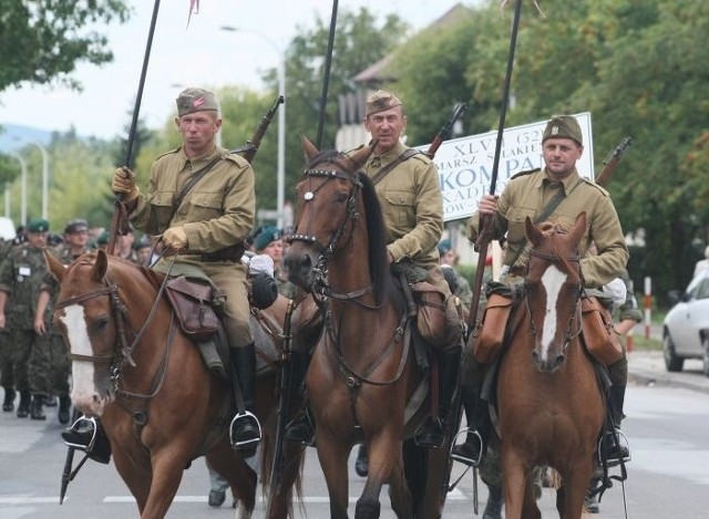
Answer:
M597 298L582 299L580 311L582 338L586 350L606 366L623 359L623 346L613 328L610 312Z

